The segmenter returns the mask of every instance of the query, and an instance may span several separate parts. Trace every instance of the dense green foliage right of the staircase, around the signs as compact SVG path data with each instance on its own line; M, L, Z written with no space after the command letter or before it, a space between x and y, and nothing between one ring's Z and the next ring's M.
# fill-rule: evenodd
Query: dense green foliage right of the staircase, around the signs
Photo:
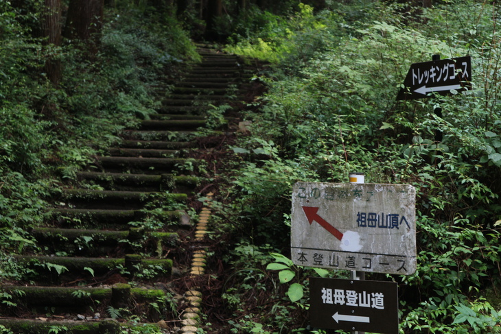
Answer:
M243 314L245 302L254 312L235 322L235 332L290 333L305 326L307 289L301 287L312 272L265 254L288 255L294 182L347 182L348 173L357 171L366 182L417 189L417 272L369 275L399 283L401 333L498 333L498 7L469 0L430 9L331 1L316 13L301 5L290 17L253 14L246 34L233 35L228 49L276 65L259 78L269 88L263 108L246 115L253 120L252 136L235 147L245 167L234 182L233 208L253 234L242 235L229 261L253 274L242 269L246 284L231 288L226 299L235 315ZM252 29L257 21L264 24ZM395 101L410 64L433 54L471 55L473 89ZM434 113L438 105L443 117ZM437 130L443 132L440 142ZM243 254L259 254L259 261L242 261ZM278 279L260 274L266 263L280 272ZM281 294L274 304L250 301L250 286L278 289L279 282L292 285L275 290Z

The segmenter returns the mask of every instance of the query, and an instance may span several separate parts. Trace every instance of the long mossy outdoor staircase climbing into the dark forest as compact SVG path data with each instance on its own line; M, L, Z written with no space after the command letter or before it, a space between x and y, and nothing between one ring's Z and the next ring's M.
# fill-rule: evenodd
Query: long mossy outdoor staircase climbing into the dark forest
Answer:
M118 147L78 173L78 186L54 196L45 226L32 230L40 253L14 256L25 281L0 287L8 300L0 325L14 333L196 331L200 293L172 280L204 272L209 203L200 226L200 208L189 206L204 182L198 131L207 110L244 99L249 77L240 58L198 51L202 62L171 83L159 113L125 130Z

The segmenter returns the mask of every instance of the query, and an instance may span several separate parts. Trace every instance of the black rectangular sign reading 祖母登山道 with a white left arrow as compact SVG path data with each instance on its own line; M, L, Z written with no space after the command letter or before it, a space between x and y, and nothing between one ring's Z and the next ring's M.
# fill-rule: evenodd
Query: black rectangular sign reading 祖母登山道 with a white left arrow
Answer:
M310 278L311 325L398 334L396 282Z

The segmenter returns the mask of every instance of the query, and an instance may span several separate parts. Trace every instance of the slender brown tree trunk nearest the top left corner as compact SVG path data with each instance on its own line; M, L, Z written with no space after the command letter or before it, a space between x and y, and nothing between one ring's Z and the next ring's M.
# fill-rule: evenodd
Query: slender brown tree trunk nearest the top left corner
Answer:
M41 34L47 38L45 45L61 45L61 0L45 0L45 8L41 19ZM45 62L45 73L50 82L58 84L61 80L61 61L49 56Z

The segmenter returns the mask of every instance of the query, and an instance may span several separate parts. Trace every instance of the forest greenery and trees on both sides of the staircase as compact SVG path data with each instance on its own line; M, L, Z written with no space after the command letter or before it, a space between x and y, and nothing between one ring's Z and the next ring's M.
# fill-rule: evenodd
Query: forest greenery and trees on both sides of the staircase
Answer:
M417 189L417 272L368 275L399 284L401 333L500 332L496 3L28 0L0 13L0 280L26 274L10 254L36 252L27 231L54 189L154 113L199 60L193 40L210 39L268 62L253 78L268 92L211 180L227 190L207 333L322 332L308 327L307 277L348 273L292 265L290 192L352 171ZM395 101L434 54L470 55L471 91Z

